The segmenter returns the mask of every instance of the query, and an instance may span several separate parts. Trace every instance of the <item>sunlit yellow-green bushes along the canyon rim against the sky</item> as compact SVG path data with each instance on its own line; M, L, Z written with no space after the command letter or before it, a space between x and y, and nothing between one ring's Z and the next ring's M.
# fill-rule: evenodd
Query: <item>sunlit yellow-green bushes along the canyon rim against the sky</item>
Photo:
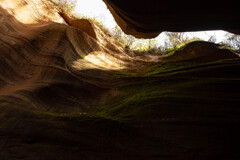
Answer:
M61 10L65 13L72 15L73 10L76 7L77 0L51 0L59 6ZM105 33L111 35L109 30L103 23L94 17L83 17L77 15L80 18L86 18L97 24ZM175 50L181 48L185 44L201 40L198 37L189 37L183 32L164 32L166 38L164 45L160 46L160 43L156 38L154 39L137 39L131 35L126 35L123 33L121 28L116 25L112 31L113 37L127 50L132 50L136 53L162 53L162 54L173 54ZM240 50L240 36L234 34L226 34L227 39L222 42L223 45L229 46L235 50ZM216 42L216 36L211 36L209 38L210 42Z

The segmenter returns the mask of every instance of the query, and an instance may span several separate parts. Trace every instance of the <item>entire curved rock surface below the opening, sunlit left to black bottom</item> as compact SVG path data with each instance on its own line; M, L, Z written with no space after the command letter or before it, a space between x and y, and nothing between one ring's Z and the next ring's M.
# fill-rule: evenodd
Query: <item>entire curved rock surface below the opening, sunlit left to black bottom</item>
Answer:
M196 42L151 62L81 22L0 0L1 160L239 158L238 57Z

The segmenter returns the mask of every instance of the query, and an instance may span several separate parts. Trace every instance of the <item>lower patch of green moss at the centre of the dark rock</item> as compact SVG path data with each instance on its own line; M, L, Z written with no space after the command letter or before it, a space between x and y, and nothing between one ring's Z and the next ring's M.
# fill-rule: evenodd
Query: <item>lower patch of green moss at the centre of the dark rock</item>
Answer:
M169 81L161 84L153 82L145 85L130 85L122 88L122 91L127 95L124 99L110 106L99 107L94 112L94 115L122 122L130 121L145 114L145 112L142 111L144 106L171 97L177 93L176 88L186 85L189 86L193 83L192 81Z

